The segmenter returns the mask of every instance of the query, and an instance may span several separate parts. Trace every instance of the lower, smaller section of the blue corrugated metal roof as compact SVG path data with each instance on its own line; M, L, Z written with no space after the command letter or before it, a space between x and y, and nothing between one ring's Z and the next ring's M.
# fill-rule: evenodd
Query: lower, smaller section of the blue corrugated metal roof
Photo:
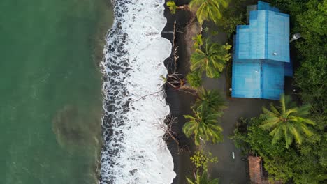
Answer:
M232 97L279 100L284 93L284 63L267 59L233 62Z

